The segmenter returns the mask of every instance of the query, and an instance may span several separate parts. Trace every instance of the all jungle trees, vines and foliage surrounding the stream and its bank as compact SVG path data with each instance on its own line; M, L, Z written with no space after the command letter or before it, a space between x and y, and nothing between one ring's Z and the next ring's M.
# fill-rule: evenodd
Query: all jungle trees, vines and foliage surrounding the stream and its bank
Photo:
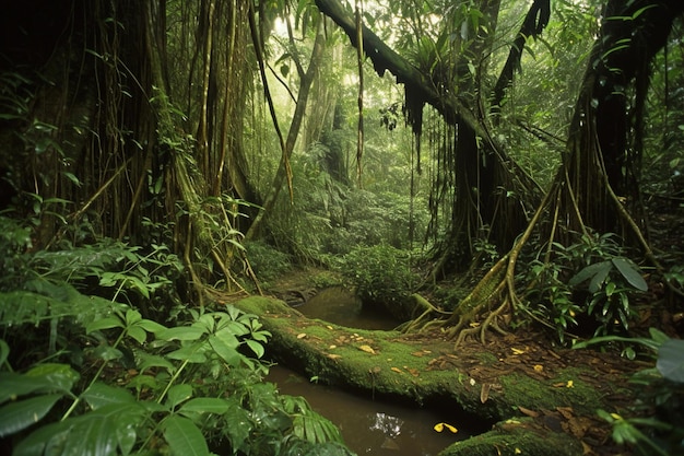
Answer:
M662 349L639 418L604 418L681 449L680 0L5 12L8 451L349 453L262 382L258 316L215 305L302 267L457 344Z

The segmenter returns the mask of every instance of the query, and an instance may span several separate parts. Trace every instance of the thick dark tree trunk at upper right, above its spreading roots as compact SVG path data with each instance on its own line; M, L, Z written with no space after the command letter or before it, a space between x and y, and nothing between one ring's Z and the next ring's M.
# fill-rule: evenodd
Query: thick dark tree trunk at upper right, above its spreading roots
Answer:
M611 0L605 9L601 34L590 56L579 95L568 153L564 159L569 188L561 213L599 232L624 234L625 225L614 203L614 192L628 203L637 203L638 163L641 151L635 138L638 121L630 110L645 103L649 66L662 49L673 21L684 12L681 0ZM635 92L630 87L636 86ZM638 120L638 119L637 119ZM565 180L563 176L561 180ZM579 211L580 219L574 214Z

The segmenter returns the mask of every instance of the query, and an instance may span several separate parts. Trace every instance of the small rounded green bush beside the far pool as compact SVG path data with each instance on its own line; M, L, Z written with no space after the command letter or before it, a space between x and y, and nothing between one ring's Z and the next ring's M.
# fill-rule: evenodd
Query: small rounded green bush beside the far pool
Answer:
M408 254L388 245L355 248L344 256L341 272L362 301L387 307L403 304L417 284Z

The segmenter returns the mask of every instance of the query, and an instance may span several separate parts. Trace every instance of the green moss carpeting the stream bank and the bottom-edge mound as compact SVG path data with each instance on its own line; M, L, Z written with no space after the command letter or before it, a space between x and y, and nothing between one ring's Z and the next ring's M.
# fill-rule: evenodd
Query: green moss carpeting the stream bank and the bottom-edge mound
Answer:
M546 381L512 372L496 379L497 386L492 387L483 404L482 384L459 370L451 342L416 341L397 331L350 329L306 318L279 301L264 297L250 297L236 305L260 315L264 328L273 334L268 351L279 361L317 376L319 382L369 396L401 397L418 405L452 404L480 420L500 421L520 417L519 407L573 407L576 413L593 414L606 394L582 379L591 372L581 367L565 369ZM484 347L476 358L484 365L498 362ZM570 436L549 431L540 435L532 426L512 423L461 442L440 456L512 455L516 448L524 455L581 454L577 451L578 442ZM550 449L556 443L559 449Z

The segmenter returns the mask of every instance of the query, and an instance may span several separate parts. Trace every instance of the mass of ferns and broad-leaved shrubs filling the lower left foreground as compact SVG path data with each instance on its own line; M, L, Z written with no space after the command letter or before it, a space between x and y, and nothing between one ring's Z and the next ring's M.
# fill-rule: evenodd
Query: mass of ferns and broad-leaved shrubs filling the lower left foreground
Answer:
M155 302L181 270L167 247L30 254L31 230L0 226L0 452L351 454L304 399L263 382L270 334L255 315ZM168 325L141 312L164 304Z

